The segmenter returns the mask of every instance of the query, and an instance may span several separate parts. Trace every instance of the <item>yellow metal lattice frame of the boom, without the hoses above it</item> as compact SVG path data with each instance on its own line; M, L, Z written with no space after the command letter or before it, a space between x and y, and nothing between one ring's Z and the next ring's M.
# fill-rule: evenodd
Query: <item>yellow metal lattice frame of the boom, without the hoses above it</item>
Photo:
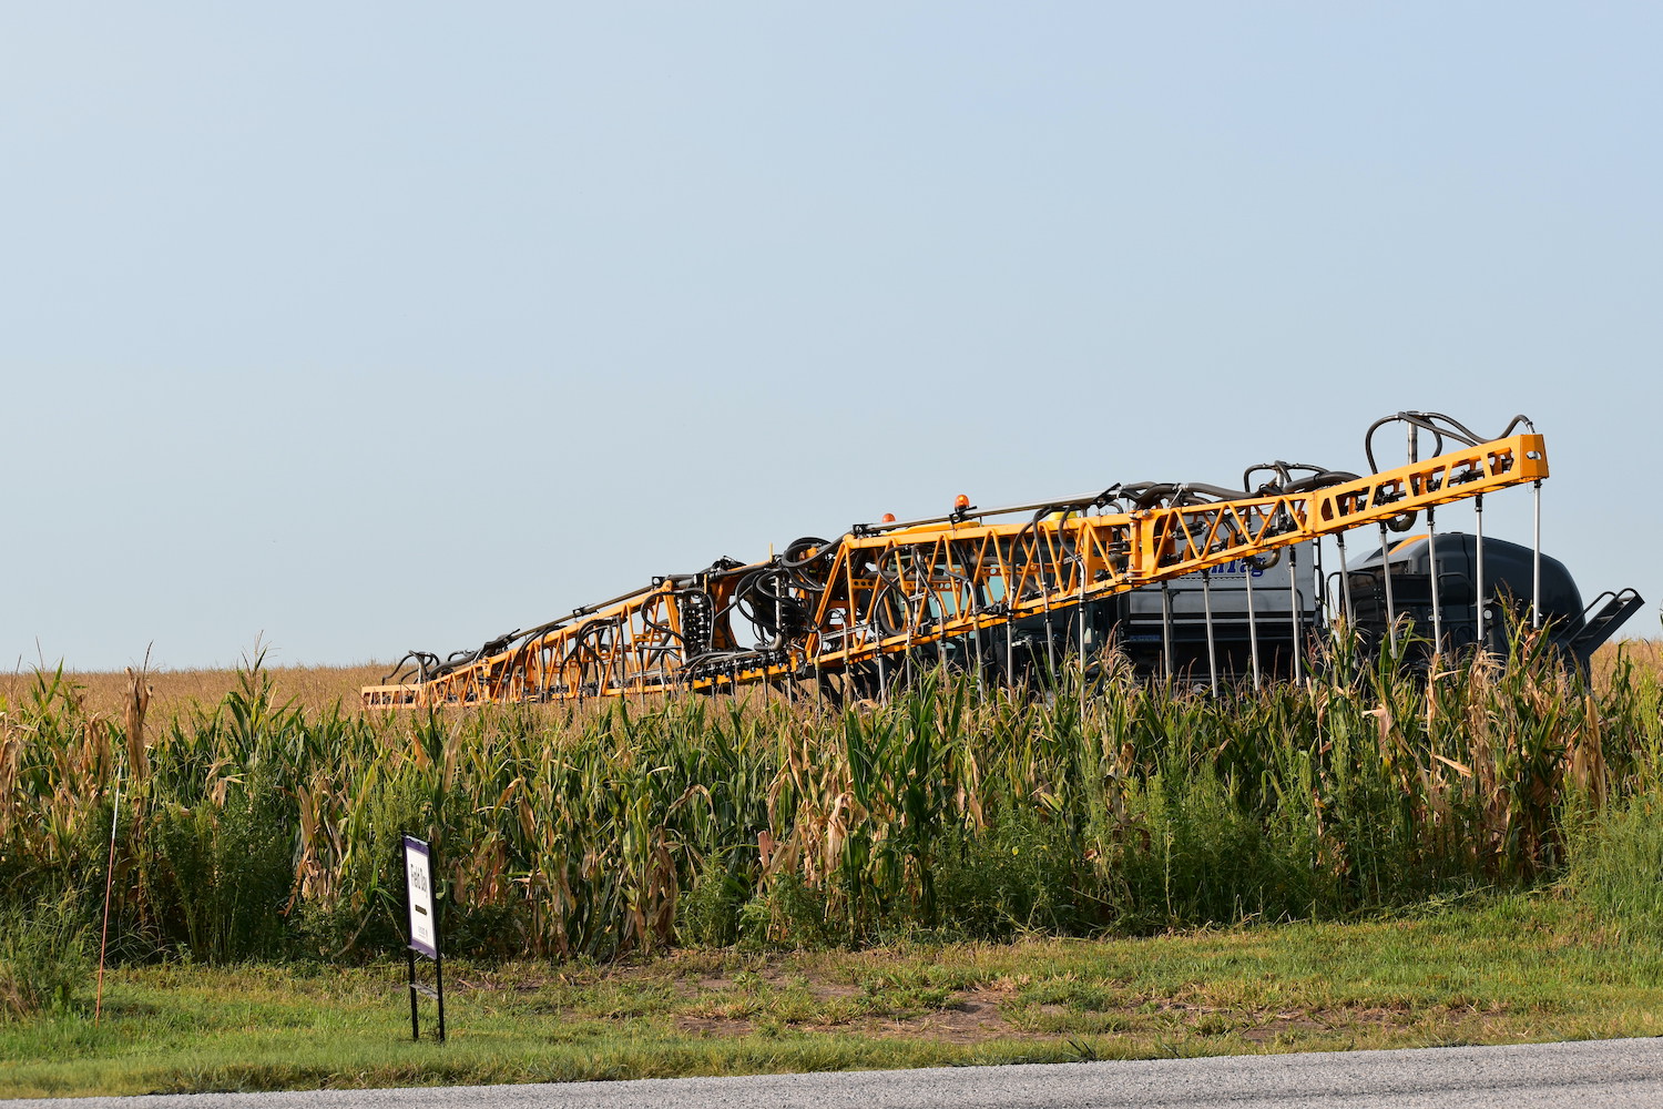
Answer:
M840 672L880 655L1008 620L1101 600L1281 547L1390 520L1548 476L1542 436L1523 434L1310 492L1194 505L1059 515L1019 524L943 522L848 534L815 590L807 635L767 662L722 668L688 658L683 595L733 604L738 580L770 562L665 579L574 615L524 643L424 683L371 685L366 708L582 700L672 688L713 690ZM805 595L805 600L813 599ZM715 652L737 652L725 619Z

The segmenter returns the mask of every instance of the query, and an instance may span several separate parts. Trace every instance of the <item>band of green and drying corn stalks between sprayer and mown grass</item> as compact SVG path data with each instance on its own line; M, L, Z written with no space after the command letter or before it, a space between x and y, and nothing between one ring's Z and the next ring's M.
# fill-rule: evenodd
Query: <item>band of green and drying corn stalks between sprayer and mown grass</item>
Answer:
M276 702L256 660L166 720L141 678L100 715L37 673L3 705L0 896L96 934L108 880L128 961L371 958L401 944L409 831L479 958L1147 933L1555 880L1660 786L1655 670L1595 688L1527 632L1505 665L1329 663L1257 693L1109 658L836 710L361 717Z

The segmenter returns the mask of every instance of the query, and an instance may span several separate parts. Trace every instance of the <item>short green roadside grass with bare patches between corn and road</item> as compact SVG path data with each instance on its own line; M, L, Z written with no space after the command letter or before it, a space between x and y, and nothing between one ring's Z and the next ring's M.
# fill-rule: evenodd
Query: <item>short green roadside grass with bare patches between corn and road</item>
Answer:
M1552 891L1147 939L682 949L447 963L409 1042L402 963L115 971L105 1019L0 1023L0 1096L592 1081L1663 1033L1663 951ZM424 1003L424 1028L432 1006Z

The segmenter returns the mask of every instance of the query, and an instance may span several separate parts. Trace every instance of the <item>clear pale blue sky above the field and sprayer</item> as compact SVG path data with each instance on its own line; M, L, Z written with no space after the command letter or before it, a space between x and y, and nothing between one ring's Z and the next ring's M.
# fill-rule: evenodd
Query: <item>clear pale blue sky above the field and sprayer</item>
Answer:
M961 490L1362 469L1404 407L1535 417L1545 547L1656 635L1658 43L1645 3L7 5L0 657L449 652Z

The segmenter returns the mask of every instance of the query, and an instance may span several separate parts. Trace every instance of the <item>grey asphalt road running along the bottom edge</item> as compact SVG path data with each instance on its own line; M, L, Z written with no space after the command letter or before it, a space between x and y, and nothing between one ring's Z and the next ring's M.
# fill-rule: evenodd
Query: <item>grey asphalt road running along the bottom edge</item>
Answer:
M1086 1109L1658 1106L1663 1039L554 1086L0 1101L73 1109Z

